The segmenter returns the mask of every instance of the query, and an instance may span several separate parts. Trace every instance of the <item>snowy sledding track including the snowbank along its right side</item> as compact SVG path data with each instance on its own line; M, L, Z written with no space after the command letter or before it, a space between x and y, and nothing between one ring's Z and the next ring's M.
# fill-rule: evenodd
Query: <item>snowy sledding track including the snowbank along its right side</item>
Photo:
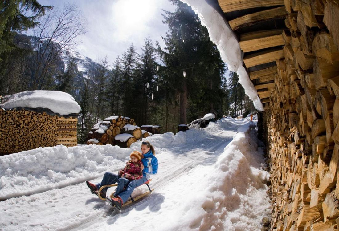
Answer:
M259 230L261 218L269 214L263 157L227 151L243 124L245 120L225 120L218 126L180 132L167 143L150 136L158 147L159 171L150 184L155 191L122 211L91 194L85 183L69 181L60 189L0 202L0 230ZM121 166L122 161L117 160ZM102 174L92 182L99 182ZM147 187L141 186L134 195L145 191ZM262 200L253 202L251 197Z

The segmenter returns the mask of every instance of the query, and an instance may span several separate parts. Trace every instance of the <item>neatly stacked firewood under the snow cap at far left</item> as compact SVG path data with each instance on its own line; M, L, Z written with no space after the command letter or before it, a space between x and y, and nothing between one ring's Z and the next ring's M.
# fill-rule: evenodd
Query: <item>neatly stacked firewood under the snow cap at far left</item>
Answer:
M25 109L0 110L0 153L77 145L77 118Z

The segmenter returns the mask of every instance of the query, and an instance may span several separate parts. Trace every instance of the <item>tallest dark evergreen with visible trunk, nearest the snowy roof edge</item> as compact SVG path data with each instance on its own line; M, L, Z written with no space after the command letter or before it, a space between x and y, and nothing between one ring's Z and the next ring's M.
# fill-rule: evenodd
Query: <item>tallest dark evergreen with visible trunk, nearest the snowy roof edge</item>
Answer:
M188 103L189 117L197 118L197 114L215 109L221 114L221 78L225 67L207 29L191 7L177 0L172 2L176 11L165 11L163 15L163 22L169 27L163 38L168 50L163 60L168 72L165 77L180 95L179 123L186 124Z

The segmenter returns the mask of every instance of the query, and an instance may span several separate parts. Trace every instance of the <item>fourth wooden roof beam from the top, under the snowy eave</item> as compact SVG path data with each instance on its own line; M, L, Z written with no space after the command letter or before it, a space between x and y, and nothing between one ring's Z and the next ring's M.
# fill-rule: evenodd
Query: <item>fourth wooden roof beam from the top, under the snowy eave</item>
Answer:
M256 65L273 62L282 58L284 58L284 51L281 48L272 48L245 56L244 63L246 67L249 68Z

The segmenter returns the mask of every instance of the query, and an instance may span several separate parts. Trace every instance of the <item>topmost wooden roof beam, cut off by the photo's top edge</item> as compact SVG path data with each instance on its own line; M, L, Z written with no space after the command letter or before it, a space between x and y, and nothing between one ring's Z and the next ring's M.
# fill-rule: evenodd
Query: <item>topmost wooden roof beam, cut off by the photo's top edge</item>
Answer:
M249 9L262 6L284 5L284 0L218 0L218 3L224 13L240 9Z

